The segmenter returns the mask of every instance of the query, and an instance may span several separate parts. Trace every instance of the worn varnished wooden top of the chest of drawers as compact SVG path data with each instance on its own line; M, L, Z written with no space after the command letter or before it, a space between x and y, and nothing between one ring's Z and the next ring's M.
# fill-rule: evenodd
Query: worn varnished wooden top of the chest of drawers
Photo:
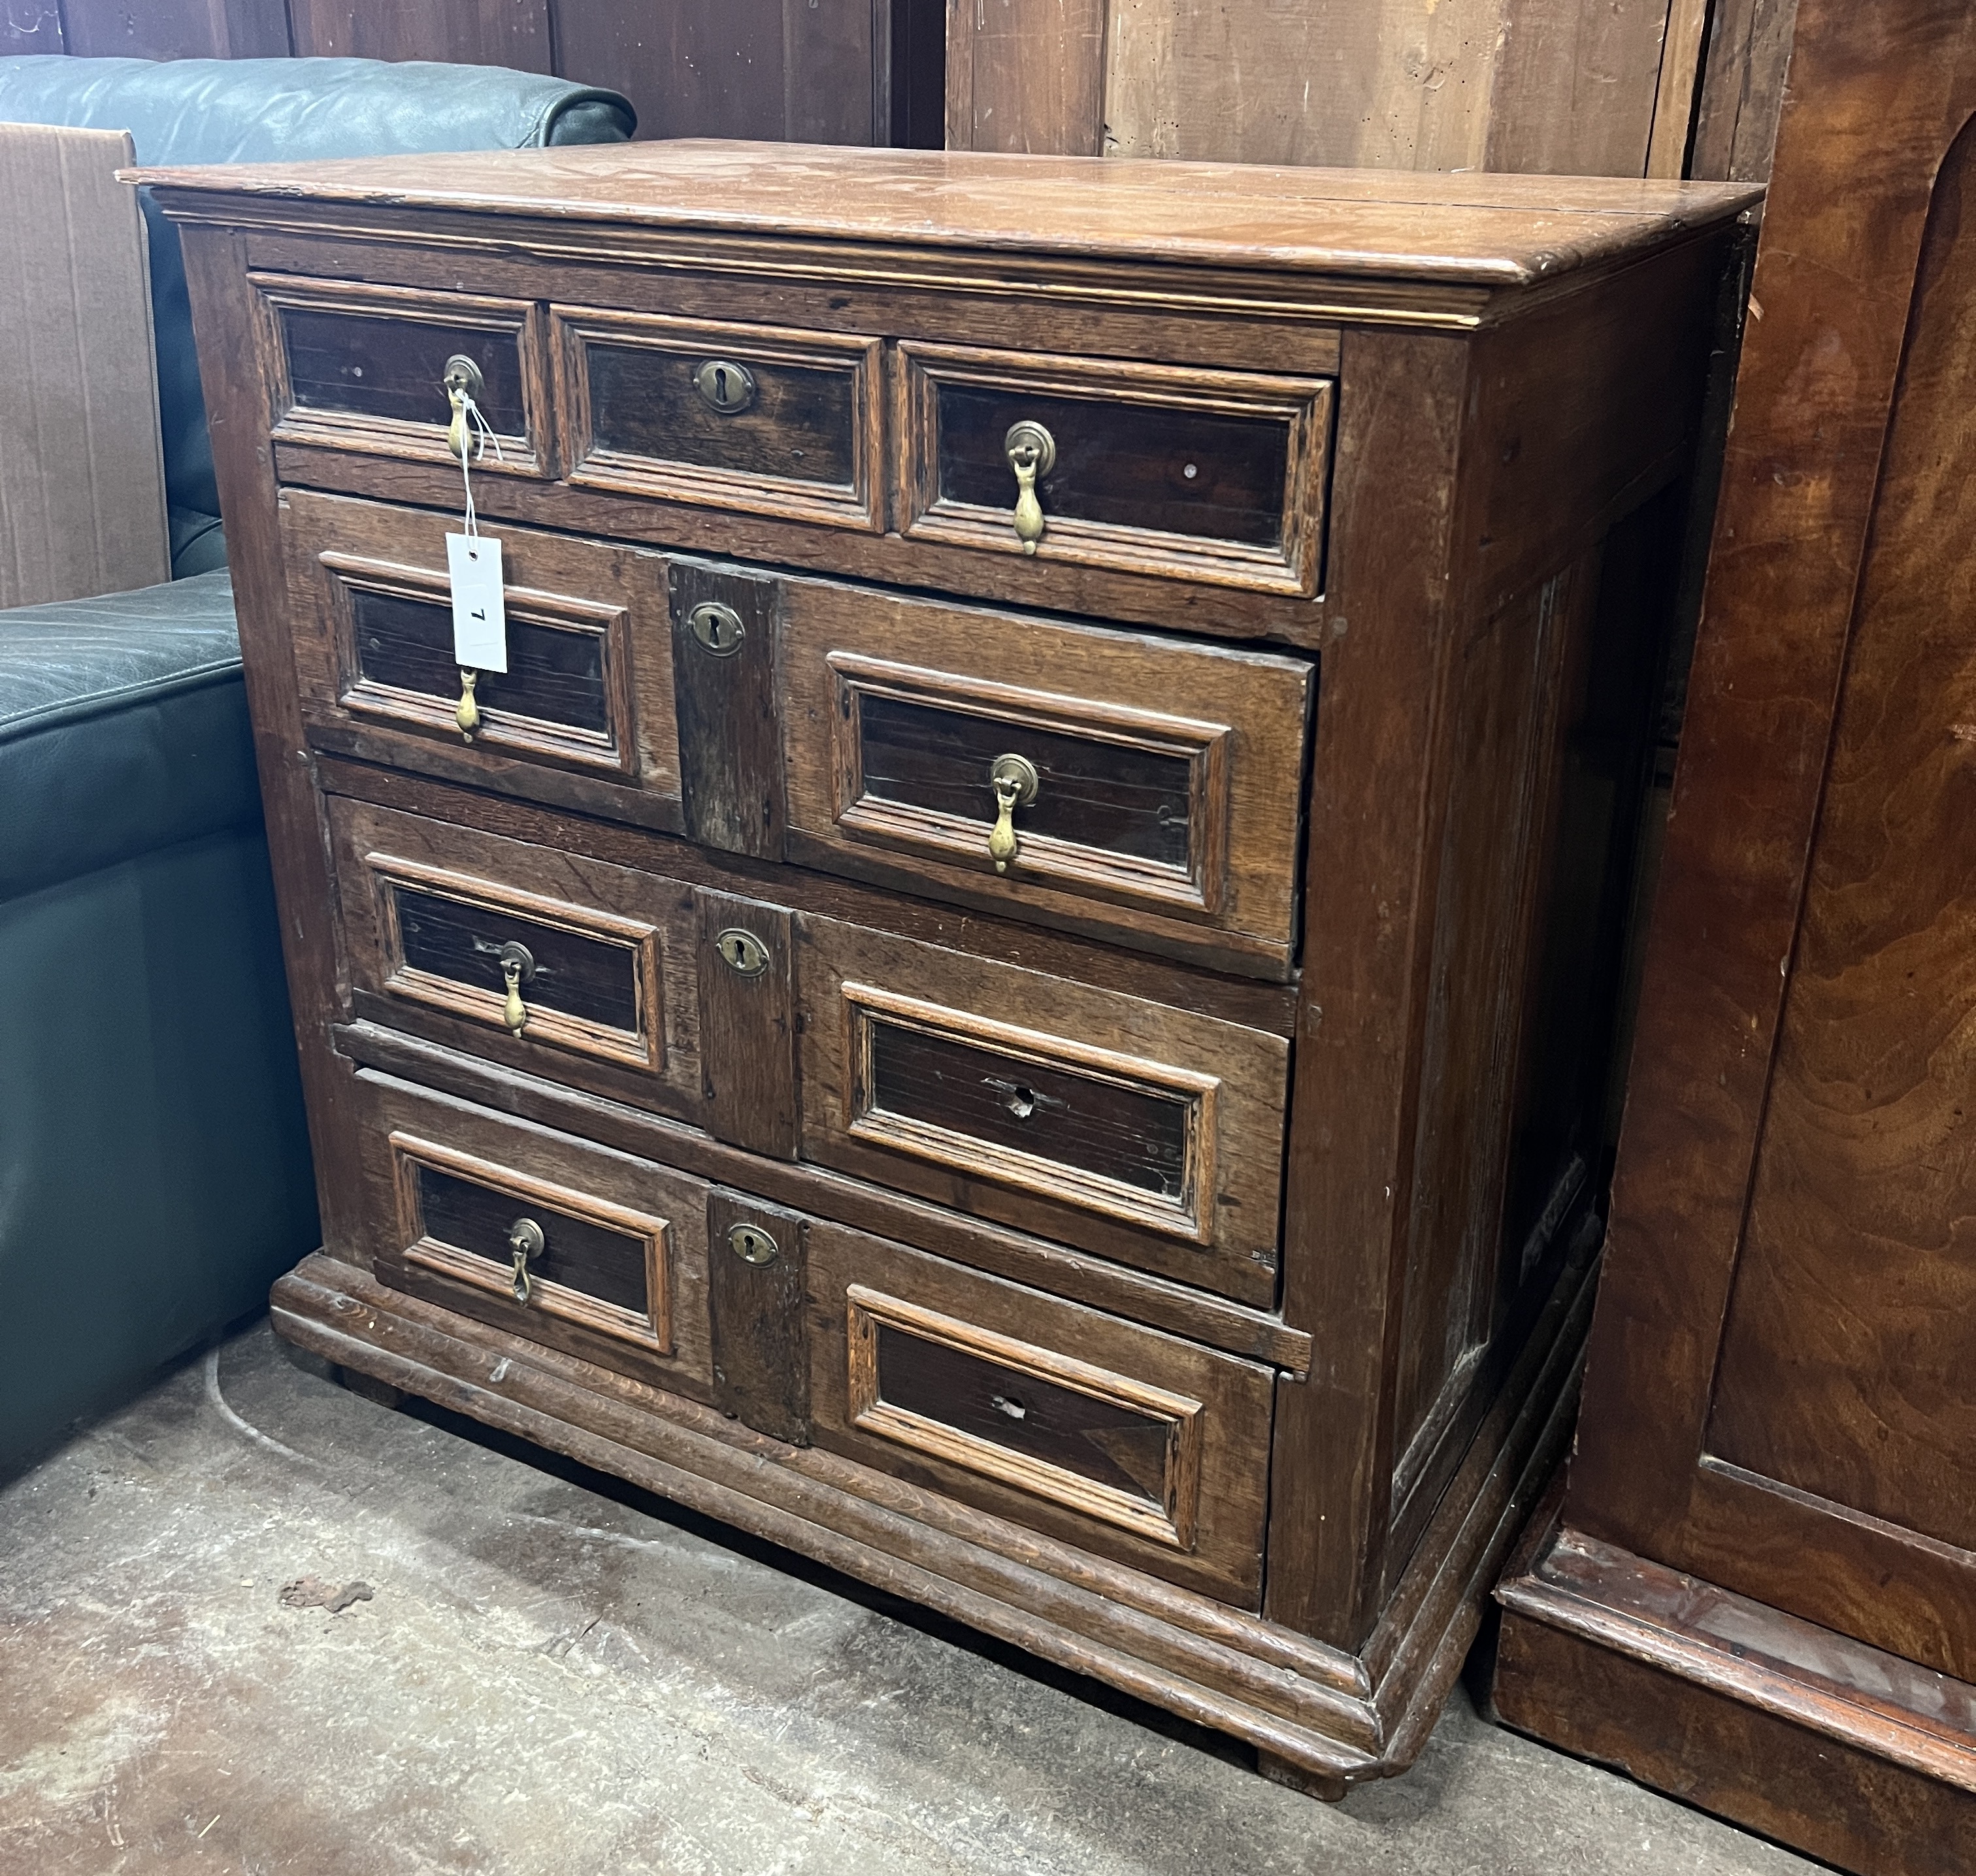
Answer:
M751 235L1413 275L1516 287L1741 213L1735 184L1395 176L972 152L672 144L132 170L174 194L539 213Z

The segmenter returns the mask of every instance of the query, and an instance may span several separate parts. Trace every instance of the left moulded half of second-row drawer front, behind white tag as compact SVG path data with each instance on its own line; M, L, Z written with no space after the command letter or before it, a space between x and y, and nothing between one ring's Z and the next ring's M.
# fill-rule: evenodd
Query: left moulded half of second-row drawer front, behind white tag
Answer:
M296 633L318 712L415 737L407 767L486 777L534 793L534 769L573 771L654 797L678 820L680 745L664 561L636 548L526 528L502 542L508 670L480 670L478 724L460 729L447 534L458 518L290 488L283 496L288 591L316 633ZM520 761L516 761L520 757Z

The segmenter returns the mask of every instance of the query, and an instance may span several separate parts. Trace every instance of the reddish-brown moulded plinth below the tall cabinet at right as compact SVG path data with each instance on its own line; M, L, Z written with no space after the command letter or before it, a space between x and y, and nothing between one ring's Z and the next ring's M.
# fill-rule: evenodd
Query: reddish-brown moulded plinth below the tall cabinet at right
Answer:
M1976 1688L1555 1522L1496 1595L1506 1726L1855 1876L1976 1870Z

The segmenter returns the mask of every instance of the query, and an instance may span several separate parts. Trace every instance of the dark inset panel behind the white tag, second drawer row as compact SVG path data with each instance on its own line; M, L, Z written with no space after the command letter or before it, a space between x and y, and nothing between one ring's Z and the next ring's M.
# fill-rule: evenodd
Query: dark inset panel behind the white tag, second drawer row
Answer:
M453 609L437 599L379 593L350 585L350 623L358 670L375 684L441 698L453 708L460 668L453 656ZM484 670L474 702L508 716L535 718L609 735L611 686L605 674L605 635L537 625L508 615L508 668Z

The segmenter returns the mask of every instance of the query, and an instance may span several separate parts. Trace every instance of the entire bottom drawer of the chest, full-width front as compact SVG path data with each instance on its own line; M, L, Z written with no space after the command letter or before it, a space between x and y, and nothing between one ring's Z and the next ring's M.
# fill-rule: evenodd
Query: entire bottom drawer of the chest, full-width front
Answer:
M389 1075L356 1079L379 1281L1259 1605L1275 1370Z

